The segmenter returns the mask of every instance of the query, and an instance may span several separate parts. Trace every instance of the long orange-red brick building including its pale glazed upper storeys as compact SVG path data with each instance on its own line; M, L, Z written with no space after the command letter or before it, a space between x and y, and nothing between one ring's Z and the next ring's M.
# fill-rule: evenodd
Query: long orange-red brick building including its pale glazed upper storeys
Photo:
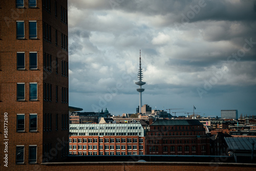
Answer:
M140 123L70 124L70 155L145 155Z

